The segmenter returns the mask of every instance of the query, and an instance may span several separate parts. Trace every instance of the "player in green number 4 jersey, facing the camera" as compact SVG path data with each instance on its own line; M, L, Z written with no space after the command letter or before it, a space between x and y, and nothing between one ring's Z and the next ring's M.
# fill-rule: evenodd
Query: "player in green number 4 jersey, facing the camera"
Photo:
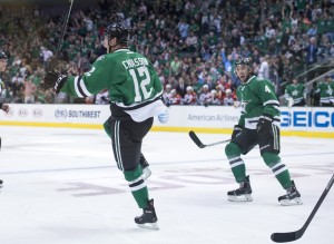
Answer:
M246 166L240 155L246 155L256 145L261 156L272 169L275 177L286 189L286 194L278 197L282 205L302 204L301 194L286 165L281 162L279 154L279 103L274 92L273 84L264 78L252 75L250 58L240 58L235 64L235 72L242 85L237 88L237 98L240 101L242 115L234 127L232 140L225 147L233 175L239 188L227 193L232 202L250 202L252 187Z

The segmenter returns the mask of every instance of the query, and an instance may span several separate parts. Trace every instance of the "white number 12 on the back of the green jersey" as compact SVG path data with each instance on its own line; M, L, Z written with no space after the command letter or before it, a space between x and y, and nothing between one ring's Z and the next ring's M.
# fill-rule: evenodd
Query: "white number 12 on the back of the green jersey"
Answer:
M137 70L137 72L136 72L136 70ZM149 71L148 71L146 66L140 66L140 67L136 68L136 70L135 69L129 69L129 72L132 77L132 81L134 81L134 85L135 85L135 101L141 101L143 100L143 97L140 95L140 90L141 90L143 96L144 96L144 100L146 100L150 97L150 94L153 91L153 87L150 87L150 89L147 90L147 85L150 84ZM137 74L138 74L138 76L137 76Z

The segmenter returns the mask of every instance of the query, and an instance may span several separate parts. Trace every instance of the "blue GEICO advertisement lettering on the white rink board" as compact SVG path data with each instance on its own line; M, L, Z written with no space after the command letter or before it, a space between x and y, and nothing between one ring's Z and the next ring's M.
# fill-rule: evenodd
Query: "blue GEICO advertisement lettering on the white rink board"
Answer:
M334 127L334 111L282 111L282 127Z

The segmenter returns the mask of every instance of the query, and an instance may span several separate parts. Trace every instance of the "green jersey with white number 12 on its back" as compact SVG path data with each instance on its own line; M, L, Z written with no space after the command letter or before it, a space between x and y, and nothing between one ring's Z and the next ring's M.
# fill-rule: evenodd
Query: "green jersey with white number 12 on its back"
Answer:
M69 77L61 88L73 97L89 97L108 89L109 100L135 121L143 121L166 109L163 86L150 61L128 49L99 57L82 76ZM112 110L112 109L111 109Z

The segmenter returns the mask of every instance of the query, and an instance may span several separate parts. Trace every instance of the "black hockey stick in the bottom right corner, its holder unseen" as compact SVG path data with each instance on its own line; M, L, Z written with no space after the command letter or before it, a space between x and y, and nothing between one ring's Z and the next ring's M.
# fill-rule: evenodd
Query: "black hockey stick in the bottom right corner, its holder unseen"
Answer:
M283 242L293 242L293 241L301 238L303 236L304 232L306 231L307 226L310 225L312 218L314 217L315 213L317 212L321 204L323 203L324 198L326 197L327 193L330 192L330 189L333 185L333 182L334 182L334 174L302 228L299 228L298 231L295 231L295 232L273 233L271 236L272 240L274 242L283 243Z

